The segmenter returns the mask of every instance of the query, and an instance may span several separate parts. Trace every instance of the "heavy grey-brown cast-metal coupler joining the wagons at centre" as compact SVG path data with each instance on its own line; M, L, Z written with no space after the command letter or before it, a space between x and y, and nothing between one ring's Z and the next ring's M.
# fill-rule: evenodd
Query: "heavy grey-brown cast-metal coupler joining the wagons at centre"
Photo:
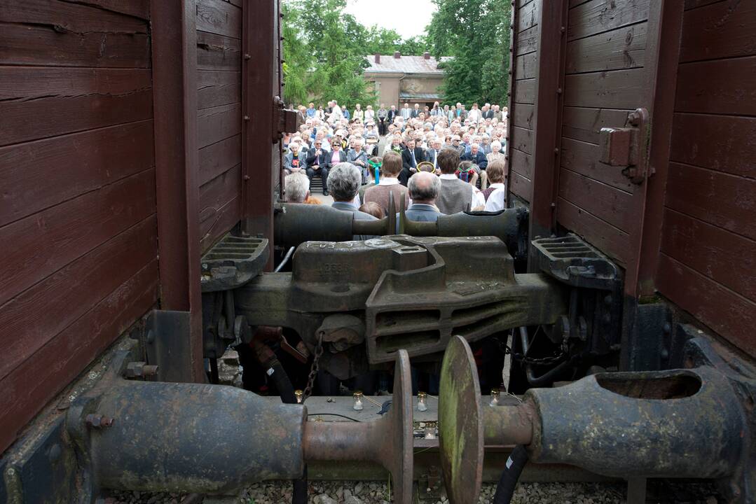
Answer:
M507 248L493 237L309 242L295 252L291 274L264 274L237 293L250 324L295 329L310 349L326 317L364 317L367 348L356 335L342 339L353 345L339 352L327 342L323 366L342 379L367 369L366 354L385 363L399 348L411 356L443 351L454 333L472 341L553 323L565 302L556 281L514 274Z

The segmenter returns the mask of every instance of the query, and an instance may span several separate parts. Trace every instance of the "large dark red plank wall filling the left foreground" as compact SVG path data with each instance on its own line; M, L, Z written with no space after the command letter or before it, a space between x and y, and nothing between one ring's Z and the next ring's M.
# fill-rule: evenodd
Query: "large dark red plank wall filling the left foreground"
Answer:
M156 303L149 18L0 2L0 452Z

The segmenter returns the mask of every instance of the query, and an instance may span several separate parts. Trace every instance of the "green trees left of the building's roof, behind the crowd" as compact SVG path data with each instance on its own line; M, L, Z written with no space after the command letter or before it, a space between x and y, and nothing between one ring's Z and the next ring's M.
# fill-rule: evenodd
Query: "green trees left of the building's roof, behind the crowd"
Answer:
M420 55L426 36L403 40L394 29L365 27L345 14L346 0L284 0L283 88L286 103L325 105L337 100L354 107L376 105L362 73L370 54Z

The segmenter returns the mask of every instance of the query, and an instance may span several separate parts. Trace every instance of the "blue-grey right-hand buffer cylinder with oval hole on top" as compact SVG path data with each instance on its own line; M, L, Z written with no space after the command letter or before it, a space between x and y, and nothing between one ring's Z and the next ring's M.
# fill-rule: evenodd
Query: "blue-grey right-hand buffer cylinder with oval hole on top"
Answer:
M477 383L474 361L459 347L468 344L454 339L445 368L472 382L454 397L470 394ZM717 478L733 502L751 502L756 373L742 362L725 363L704 339L687 348L686 363L694 369L599 373L559 388L531 388L522 405L484 408L483 416L497 416L480 420L485 441L495 441L498 431L502 443L526 444L533 462L618 478ZM447 376L442 387L448 387ZM455 407L452 401L449 411ZM441 405L439 420L446 408ZM457 448L442 443L441 449L445 461ZM451 495L460 483L447 481Z

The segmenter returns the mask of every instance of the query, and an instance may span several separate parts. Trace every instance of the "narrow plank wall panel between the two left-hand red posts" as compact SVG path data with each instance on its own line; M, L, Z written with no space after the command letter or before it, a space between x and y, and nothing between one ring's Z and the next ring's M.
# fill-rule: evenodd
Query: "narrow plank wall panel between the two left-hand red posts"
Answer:
M197 147L203 250L241 219L242 6L242 0L197 0Z

